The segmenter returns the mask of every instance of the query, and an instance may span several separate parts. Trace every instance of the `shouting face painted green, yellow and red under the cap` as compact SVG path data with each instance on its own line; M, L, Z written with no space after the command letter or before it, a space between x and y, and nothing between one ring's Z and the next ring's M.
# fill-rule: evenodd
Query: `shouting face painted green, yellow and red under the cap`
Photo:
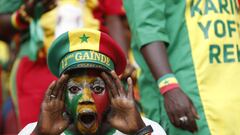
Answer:
M82 134L96 133L109 99L105 83L97 73L71 77L67 84L67 111Z

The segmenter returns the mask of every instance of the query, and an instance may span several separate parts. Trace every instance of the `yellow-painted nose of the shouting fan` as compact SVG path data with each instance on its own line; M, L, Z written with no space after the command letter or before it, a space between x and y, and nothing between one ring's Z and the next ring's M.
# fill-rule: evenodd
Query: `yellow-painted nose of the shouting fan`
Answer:
M79 104L86 104L86 105L94 103L92 93L91 93L91 90L89 88L84 88L83 89L82 98L80 98L78 103Z

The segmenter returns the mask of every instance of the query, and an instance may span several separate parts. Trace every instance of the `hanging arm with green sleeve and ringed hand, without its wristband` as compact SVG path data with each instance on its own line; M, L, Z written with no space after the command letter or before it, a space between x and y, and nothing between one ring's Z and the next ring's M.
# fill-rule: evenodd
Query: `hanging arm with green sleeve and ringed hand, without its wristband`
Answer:
M169 39L165 27L167 23L164 0L126 0L124 2L133 33L133 40L138 45L139 51L141 51L155 80L172 73L165 45L165 43L169 42ZM133 7L134 10L132 10ZM163 97L165 109L171 123L183 130L197 131L195 119L198 118L198 115L192 101L181 88L172 88L164 93ZM187 117L187 120L183 122L180 120L181 117L185 119Z

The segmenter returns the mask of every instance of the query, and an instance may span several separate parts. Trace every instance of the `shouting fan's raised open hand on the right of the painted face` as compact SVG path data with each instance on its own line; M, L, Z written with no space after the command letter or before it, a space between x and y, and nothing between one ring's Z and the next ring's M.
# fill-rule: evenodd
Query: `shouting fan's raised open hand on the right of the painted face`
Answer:
M111 102L111 109L107 116L108 122L123 133L136 133L145 127L145 124L134 102L132 79L130 77L127 79L128 91L126 92L114 71L111 72L111 76L102 73Z

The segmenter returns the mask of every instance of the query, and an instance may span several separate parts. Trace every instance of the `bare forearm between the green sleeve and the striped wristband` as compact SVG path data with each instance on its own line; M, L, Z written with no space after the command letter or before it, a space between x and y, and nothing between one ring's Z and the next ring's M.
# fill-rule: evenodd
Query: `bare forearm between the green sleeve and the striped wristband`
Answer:
M154 78L171 73L167 56L167 48L164 42L156 41L141 48L141 53L146 60Z

